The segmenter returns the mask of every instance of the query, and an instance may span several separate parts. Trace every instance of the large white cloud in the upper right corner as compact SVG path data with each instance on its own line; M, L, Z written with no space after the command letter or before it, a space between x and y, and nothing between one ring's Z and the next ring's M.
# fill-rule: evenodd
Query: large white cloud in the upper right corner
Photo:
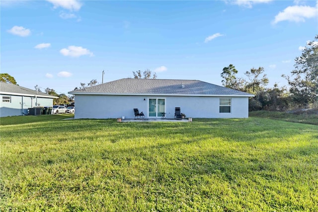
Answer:
M272 21L272 23L276 24L284 20L305 22L306 18L314 18L316 16L318 16L318 7L302 5L288 6L275 16L275 19Z

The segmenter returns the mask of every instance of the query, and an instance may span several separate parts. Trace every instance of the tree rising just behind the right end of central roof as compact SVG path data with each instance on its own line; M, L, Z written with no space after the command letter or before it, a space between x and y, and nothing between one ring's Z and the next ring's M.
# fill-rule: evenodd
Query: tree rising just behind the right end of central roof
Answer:
M236 70L235 66L232 64L228 67L224 67L223 72L221 73L221 77L224 79L222 80L222 85L226 88L241 90L243 80L236 77L237 73L238 70Z

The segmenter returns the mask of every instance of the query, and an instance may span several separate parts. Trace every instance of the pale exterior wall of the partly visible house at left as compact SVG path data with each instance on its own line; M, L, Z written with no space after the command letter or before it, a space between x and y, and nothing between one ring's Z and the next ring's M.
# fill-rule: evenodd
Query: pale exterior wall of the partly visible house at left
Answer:
M11 101L9 103L2 102L2 96L10 97ZM36 103L38 106L53 106L53 99L50 98L40 98L35 100L34 97L22 97L13 95L0 95L0 117L5 116L15 116L28 114L29 107L35 107Z

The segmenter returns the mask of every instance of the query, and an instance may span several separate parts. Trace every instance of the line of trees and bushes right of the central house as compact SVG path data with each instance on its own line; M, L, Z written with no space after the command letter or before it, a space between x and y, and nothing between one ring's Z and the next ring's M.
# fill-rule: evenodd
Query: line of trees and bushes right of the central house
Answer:
M289 89L279 87L267 88L269 80L264 68L251 68L245 78L237 77L238 70L233 64L223 68L222 84L227 88L254 94L249 99L249 110L287 110L318 106L318 35L308 41L302 55L296 57L291 75L282 75L288 81Z

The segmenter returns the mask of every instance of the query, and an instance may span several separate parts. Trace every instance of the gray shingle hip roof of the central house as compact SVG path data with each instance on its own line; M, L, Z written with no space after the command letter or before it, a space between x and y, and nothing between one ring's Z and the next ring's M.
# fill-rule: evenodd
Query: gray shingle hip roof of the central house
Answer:
M182 85L184 88L182 88ZM253 95L199 80L120 79L88 87L69 94L86 95L175 95L175 96L245 96Z

